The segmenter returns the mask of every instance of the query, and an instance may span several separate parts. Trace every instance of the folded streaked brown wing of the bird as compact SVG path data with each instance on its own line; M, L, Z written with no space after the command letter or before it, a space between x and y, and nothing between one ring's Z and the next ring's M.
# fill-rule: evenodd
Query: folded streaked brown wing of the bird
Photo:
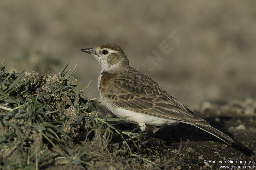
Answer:
M166 119L209 124L138 71L110 80L103 95L119 108Z

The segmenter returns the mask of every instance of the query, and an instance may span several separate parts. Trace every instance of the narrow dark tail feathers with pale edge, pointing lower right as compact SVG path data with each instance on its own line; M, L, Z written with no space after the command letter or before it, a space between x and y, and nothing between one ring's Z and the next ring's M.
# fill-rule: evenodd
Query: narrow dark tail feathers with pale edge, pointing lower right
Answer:
M210 126L210 125L205 125L205 124L193 124L194 126L212 134L213 136L216 136L217 138L223 140L224 142L226 142L228 145L231 145L232 142L235 142L232 138L230 138L228 135L226 135L225 133L215 129L214 127Z

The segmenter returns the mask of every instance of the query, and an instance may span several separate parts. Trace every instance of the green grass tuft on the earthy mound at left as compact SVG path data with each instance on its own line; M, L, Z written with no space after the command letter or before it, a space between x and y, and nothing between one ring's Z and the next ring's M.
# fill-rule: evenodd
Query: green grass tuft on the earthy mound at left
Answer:
M0 168L40 169L56 166L57 160L78 169L94 169L88 150L91 134L119 136L128 157L156 164L140 155L141 133L121 131L111 122L122 118L99 117L94 100L83 95L75 69L55 75L5 72L6 61L0 67ZM93 108L93 109L92 109ZM81 132L82 131L82 132ZM86 132L87 131L87 132ZM92 133L93 132L93 133ZM85 135L86 134L86 135ZM137 136L137 140L131 137ZM132 145L125 138L131 138ZM109 142L108 141L108 142ZM124 155L123 154L123 155ZM94 159L97 159L97 155Z

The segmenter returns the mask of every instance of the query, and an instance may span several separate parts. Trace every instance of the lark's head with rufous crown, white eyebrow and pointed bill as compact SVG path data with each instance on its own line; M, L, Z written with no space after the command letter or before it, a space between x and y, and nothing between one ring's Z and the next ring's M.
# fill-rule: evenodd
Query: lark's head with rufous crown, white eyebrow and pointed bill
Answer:
M93 55L100 63L102 71L114 73L130 67L124 51L115 44L102 44L94 48L85 48L81 51Z

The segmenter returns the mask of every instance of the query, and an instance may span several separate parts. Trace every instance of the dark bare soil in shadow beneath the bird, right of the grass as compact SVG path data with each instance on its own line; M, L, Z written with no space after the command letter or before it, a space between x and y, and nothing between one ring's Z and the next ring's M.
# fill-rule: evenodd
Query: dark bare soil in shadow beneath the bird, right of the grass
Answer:
M124 151L125 146L118 148L116 143L122 141L113 136L108 143L109 148L104 152L99 150L101 161L92 161L96 169L220 169L220 166L254 166L256 160L256 101L205 101L196 110L196 114L210 124L226 133L236 143L227 145L220 139L188 124L173 124L162 126L149 140L146 147L141 147L140 155L156 162L156 165L130 158ZM138 127L125 121L117 122L116 128L132 131ZM154 129L148 126L149 134ZM145 138L143 135L141 138ZM96 140L96 139L94 139ZM101 141L101 139L99 139ZM102 145L101 142L98 145ZM129 145L133 145L132 142ZM107 147L106 145L102 145ZM120 150L118 150L120 149ZM135 147L133 149L136 152ZM90 150L90 149L89 149ZM118 153L119 152L119 153ZM107 157L107 158L106 158ZM125 158L125 159L123 159ZM207 160L207 163L204 161ZM226 160L227 163L209 163L209 160ZM228 160L250 160L252 163L228 163ZM236 169L236 168L235 168ZM242 169L242 168L240 168ZM250 168L248 168L250 169Z

